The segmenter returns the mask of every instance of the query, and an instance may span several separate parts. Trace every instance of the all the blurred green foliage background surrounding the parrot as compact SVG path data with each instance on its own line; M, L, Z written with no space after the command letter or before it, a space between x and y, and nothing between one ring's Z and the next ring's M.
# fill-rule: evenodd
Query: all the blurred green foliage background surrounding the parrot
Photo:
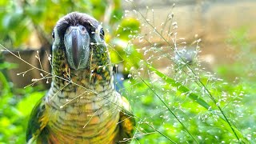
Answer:
M174 66L174 62L177 62L173 62L174 50L167 49L171 51L172 58L158 61L169 53L162 48L166 45L168 47L168 44L162 44L165 43L162 37L158 38L160 44L148 42L146 45L138 42L143 36L150 37L155 30L150 27L150 21L138 16L138 13L134 12L133 17L126 16L119 0L19 0L1 1L0 6L0 43L8 50L50 50L51 32L55 23L71 11L93 15L102 22L111 61L119 65L118 71L125 77L122 95L129 99L137 117L133 143L171 143L169 138L177 143L194 143L194 139L199 143L239 143L225 118L223 120L218 106L234 127L238 138L241 138L241 143L256 142L256 57L254 40L248 38L249 26L230 30L223 39L225 45L232 46L232 62L214 66L206 63L210 71L207 72L201 70L203 62L199 62L200 58L194 58L195 62L190 66L199 81L186 68L186 62L182 66ZM177 17L182 17L182 14L177 14ZM143 25L147 27L142 28ZM137 43L133 45L131 42ZM210 45L204 43L205 47ZM3 50L3 47L0 49ZM204 50L203 46L201 50ZM6 52L0 54L0 143L25 143L30 111L46 93L46 87L15 86L14 81L10 82L10 70L20 70L18 65L24 64L5 62L4 54ZM31 57L34 55L31 54ZM152 74L154 70L147 65L158 68L164 76ZM33 74L27 75L34 78ZM180 85L177 86L177 83ZM217 103L212 101L204 86ZM186 90L191 91L188 94ZM196 97L190 97L190 93ZM203 102L197 102L198 98L202 98ZM203 107L204 102L210 106L208 110Z

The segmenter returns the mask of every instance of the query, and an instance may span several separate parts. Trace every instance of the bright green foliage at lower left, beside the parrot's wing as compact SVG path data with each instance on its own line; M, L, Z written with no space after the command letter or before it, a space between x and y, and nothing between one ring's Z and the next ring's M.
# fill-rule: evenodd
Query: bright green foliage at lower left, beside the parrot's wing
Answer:
M10 66L10 64L6 64ZM4 68L5 65L1 65ZM26 125L34 103L45 94L38 88L13 90L12 85L0 71L0 142L24 143Z

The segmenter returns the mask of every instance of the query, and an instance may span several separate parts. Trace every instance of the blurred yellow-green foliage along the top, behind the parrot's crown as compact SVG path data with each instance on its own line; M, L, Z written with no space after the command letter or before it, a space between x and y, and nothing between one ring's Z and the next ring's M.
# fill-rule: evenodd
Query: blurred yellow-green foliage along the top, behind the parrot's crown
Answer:
M0 3L0 42L6 47L22 46L28 42L34 30L39 38L51 43L51 32L60 17L72 11L87 13L103 22L104 27L122 26L124 31L110 30L110 34L127 33L127 30L138 29L138 21L131 18L122 19L121 2L115 0L90 1L5 1ZM105 18L105 19L104 19ZM108 30L106 31L108 32ZM129 33L129 32L128 32ZM127 40L127 35L124 34ZM113 37L114 35L112 35ZM123 38L122 38L123 39ZM42 42L44 44L44 42Z

